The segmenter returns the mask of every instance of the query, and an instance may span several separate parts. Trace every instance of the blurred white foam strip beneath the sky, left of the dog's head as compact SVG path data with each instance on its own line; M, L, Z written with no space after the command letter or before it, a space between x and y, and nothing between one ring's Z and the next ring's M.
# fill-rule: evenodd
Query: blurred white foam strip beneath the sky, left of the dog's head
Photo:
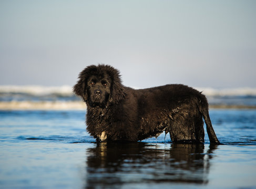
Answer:
M34 96L43 95L73 95L71 86L45 87L45 86L0 86L0 93L26 93Z

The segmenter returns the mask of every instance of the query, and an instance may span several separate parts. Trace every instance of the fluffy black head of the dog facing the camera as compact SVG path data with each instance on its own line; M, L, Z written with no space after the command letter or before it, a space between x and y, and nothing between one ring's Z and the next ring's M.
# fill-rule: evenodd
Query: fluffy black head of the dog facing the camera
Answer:
M124 98L119 71L111 66L88 66L80 72L78 79L73 91L88 106L104 108Z

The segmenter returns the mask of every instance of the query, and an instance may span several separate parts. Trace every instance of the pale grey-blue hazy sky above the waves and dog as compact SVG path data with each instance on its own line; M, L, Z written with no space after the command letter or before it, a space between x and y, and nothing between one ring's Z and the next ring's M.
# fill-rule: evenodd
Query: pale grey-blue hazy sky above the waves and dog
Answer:
M256 87L256 1L0 1L0 85L74 85L89 65L125 86Z

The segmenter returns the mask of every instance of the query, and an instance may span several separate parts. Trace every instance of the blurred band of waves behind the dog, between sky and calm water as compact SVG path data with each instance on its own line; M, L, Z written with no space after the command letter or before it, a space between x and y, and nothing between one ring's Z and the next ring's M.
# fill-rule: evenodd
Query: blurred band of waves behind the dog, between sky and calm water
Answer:
M213 108L255 108L256 88L196 88ZM0 86L1 110L82 110L85 103L71 86Z

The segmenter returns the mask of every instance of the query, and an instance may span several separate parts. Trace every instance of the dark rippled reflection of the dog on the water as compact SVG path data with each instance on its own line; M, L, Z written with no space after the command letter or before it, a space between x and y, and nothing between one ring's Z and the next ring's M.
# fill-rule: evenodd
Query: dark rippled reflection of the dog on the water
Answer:
M100 143L87 150L86 188L141 183L207 184L217 146L204 144Z

